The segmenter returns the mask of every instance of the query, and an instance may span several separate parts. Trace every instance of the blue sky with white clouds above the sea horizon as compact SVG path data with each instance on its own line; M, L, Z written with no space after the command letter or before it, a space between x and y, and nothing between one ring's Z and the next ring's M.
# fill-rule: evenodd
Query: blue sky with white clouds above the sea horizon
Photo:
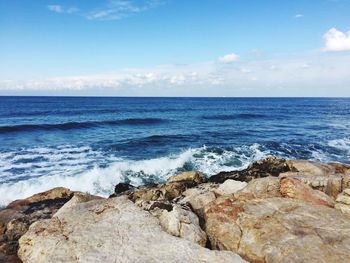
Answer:
M350 0L0 0L0 95L350 96Z

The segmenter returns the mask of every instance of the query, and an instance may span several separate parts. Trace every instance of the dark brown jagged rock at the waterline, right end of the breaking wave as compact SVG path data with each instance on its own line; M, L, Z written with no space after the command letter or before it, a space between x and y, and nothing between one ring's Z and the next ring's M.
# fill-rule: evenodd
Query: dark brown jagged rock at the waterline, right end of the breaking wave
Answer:
M242 171L220 172L209 178L210 182L223 183L227 179L249 182L254 178L267 176L278 176L280 173L290 171L286 160L275 156L252 163L247 169Z

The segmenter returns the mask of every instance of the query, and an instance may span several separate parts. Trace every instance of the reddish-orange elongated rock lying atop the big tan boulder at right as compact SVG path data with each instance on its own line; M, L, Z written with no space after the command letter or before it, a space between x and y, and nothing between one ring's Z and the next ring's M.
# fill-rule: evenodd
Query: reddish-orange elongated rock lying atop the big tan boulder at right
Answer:
M310 186L294 178L282 178L280 181L280 192L283 197L304 200L315 205L334 207L334 201L328 195L321 191L314 190Z

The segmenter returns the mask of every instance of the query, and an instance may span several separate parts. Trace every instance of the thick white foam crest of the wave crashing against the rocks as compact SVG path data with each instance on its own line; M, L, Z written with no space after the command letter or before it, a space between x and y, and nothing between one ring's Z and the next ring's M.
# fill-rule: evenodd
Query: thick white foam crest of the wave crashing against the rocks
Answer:
M91 154L90 149L88 153ZM98 155L98 153L95 154ZM258 144L232 149L203 146L149 160L133 161L112 158L105 166L95 164L87 169L82 165L81 168L84 170L78 173L74 162L84 161L84 158L88 162L90 157L85 153L85 157L83 154L83 157L73 159L72 165L65 164L48 174L29 176L23 180L17 177L17 181L1 183L0 205L6 205L15 199L25 198L58 186L108 196L119 182L128 182L133 185L164 182L170 176L188 170L199 170L206 175L213 175L223 170L243 169L251 162L268 154L269 152ZM67 156L65 158L67 159ZM62 164L64 165L64 161ZM52 169L55 164L51 160L47 162L47 166L46 169ZM1 177L1 179L5 178Z

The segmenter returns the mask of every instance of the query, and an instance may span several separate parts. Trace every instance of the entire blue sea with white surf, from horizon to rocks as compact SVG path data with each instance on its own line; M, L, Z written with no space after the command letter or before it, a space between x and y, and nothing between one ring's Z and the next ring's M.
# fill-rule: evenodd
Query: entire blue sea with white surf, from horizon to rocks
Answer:
M0 97L0 205L56 186L210 176L267 155L350 163L349 98Z

